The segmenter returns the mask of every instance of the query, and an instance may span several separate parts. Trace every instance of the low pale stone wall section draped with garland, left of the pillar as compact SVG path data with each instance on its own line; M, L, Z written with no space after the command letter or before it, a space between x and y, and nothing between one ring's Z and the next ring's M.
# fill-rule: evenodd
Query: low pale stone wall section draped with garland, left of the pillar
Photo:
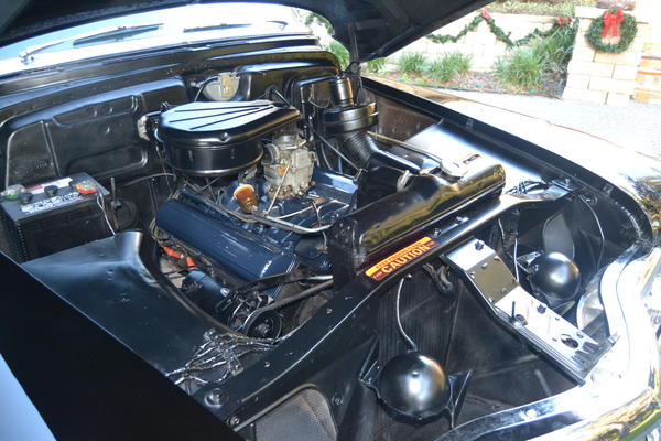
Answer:
M477 13L468 14L455 22L452 22L441 29L434 34L437 35L456 35L468 24ZM510 37L512 40L521 39L528 35L535 29L545 31L551 28L553 17L546 15L524 15L524 14L501 14L491 13L491 17L496 21L496 24L507 33L511 32ZM446 52L458 51L463 54L473 56L472 71L490 71L494 63L499 56L505 55L507 46L501 41L496 40L496 35L491 33L489 26L484 21L479 23L477 29L473 32L468 32L462 40L456 43L434 43L429 39L420 39L403 50L397 52L391 60L395 61L403 52L421 52L425 54L429 61L433 61L443 55Z

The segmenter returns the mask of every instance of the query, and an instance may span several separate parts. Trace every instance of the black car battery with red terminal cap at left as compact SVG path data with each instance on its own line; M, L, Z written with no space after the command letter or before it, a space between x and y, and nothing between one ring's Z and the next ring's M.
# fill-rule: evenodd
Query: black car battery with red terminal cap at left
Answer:
M4 192L7 250L23 262L111 235L101 209L108 191L87 173Z

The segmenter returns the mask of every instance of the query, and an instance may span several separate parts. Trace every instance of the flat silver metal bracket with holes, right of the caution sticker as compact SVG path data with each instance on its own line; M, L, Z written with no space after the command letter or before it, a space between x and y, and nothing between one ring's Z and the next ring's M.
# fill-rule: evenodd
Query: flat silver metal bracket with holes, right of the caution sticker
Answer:
M496 251L472 239L445 256L479 292L496 318L552 358L576 380L607 348L528 293Z

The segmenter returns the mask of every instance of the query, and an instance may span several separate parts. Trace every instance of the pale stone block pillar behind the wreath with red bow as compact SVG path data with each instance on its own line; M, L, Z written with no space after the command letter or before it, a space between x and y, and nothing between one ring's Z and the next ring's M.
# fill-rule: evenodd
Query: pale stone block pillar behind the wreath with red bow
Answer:
M567 66L567 84L563 99L624 106L636 86L638 65L647 39L648 18L636 11L627 13L636 17L638 34L629 49L619 54L596 52L585 40L585 33L593 20L600 20L604 9L576 7L576 18L581 20L572 61Z

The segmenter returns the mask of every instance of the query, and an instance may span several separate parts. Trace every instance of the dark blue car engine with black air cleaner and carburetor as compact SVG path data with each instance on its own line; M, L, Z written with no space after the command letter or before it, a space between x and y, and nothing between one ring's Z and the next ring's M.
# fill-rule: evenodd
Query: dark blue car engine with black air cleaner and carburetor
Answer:
M347 77L325 82L333 98L318 129L301 127L295 107L263 99L189 103L151 116L154 142L184 179L155 218L163 257L198 262L189 265L182 291L251 337L283 332L278 309L262 313L286 300L292 278L283 275L340 288L411 229L505 184L502 168L478 157L448 169L435 158L382 150L368 135L377 122L375 103L356 104ZM305 130L328 146L321 160ZM257 297L240 288L260 280Z

